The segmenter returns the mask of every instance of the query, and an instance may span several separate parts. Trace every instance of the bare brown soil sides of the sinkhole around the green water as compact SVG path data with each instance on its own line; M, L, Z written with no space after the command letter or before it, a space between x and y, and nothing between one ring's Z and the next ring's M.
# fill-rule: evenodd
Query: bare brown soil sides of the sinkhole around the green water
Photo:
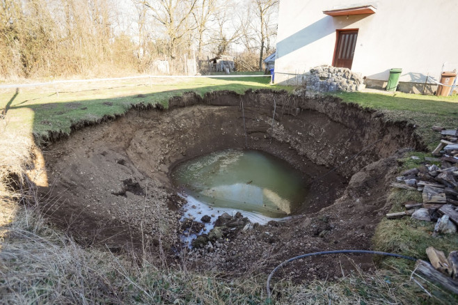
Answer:
M183 201L169 180L171 168L214 150L246 147L302 171L310 183L304 198L310 208L290 221L181 251ZM187 93L173 97L167 110L132 109L47 147L51 186L41 191L49 219L81 244L120 250L143 242L158 260L188 268L266 272L305 252L370 249L374 226L389 209L385 194L397 165L393 154L406 147L425 149L412 126L335 97ZM338 259L351 268L346 258ZM370 266L372 258L356 261ZM298 262L285 272L298 280L342 274L335 257Z

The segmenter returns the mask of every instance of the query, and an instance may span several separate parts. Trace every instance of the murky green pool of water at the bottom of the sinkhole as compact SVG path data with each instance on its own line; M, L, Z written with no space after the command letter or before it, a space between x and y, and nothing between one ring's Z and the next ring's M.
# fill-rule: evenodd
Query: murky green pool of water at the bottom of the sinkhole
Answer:
M230 149L197 157L175 166L171 179L188 199L184 217L197 221L205 214L214 221L222 212L240 211L262 224L294 214L306 196L300 171L258 150Z

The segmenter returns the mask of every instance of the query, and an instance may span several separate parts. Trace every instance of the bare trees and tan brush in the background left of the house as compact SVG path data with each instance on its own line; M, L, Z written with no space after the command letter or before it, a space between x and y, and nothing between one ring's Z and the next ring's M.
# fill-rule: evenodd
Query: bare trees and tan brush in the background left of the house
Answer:
M0 0L0 77L141 71L159 54L179 58L172 64L181 70L181 56L191 49L202 57L227 53L235 44L246 47L245 66L253 70L273 43L277 3Z

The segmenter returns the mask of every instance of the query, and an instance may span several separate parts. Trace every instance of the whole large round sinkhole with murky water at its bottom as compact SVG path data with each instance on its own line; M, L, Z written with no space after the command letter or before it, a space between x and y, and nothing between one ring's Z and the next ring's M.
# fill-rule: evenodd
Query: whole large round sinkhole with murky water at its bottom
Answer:
M184 232L206 235L189 260L199 268L366 249L387 210L390 156L424 148L413 131L335 97L187 93L50 144L43 212L81 244L170 261Z

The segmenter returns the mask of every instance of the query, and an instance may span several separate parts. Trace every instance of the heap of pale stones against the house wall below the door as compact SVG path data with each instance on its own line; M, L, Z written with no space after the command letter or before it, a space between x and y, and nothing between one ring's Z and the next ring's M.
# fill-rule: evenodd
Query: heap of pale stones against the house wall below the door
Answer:
M318 92L361 91L364 86L361 75L347 68L335 68L330 65L310 69L306 84L308 91Z

